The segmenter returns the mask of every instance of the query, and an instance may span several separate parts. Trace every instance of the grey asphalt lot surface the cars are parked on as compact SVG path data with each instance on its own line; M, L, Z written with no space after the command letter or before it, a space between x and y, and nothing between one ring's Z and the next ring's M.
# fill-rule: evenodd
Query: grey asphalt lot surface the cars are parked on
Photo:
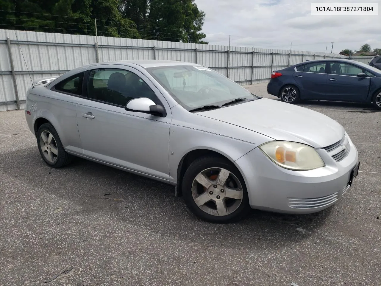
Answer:
M317 214L230 225L196 219L172 186L82 159L51 169L24 111L0 112L0 285L381 285L381 112L299 105L346 128L359 177Z

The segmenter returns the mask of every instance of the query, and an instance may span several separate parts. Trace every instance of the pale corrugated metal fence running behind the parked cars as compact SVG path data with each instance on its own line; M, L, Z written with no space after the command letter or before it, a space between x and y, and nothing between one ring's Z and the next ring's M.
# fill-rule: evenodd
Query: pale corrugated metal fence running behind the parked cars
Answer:
M245 85L267 82L273 70L337 54L0 29L0 111L24 108L32 79L86 64L128 59L197 63Z

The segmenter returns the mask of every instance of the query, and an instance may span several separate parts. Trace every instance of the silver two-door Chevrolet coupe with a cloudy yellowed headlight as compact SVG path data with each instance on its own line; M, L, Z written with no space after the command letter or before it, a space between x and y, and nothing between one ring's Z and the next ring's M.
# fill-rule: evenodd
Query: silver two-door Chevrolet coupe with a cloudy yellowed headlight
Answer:
M192 63L79 67L36 82L25 112L51 167L79 156L170 183L209 222L238 220L250 207L317 212L343 196L359 168L338 122Z

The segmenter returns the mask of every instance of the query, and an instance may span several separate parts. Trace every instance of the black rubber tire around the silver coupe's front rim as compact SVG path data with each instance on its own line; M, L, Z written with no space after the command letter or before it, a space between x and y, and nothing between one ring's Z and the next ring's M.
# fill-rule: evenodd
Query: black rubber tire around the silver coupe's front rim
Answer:
M232 211L231 213L227 215L208 214L207 212L202 210L199 206L197 206L195 199L193 198L192 184L195 180L195 177L200 172L208 168L223 168L228 170L233 176L229 175L229 178L226 180L226 182L228 182L235 176L235 178L239 180L239 183L242 186L241 200L235 200L235 199L229 199L229 198L221 199L221 200L224 200L225 206L227 206L227 204L230 202L228 200L233 200L234 201L233 203L237 201L237 204L240 201L240 204L237 207L237 209L235 209L234 211ZM205 188L204 190L206 193L207 191ZM192 162L192 164L189 165L188 169L186 170L182 180L182 194L183 194L184 201L187 207L191 210L191 212L195 214L197 217L199 217L200 219L205 220L207 222L213 222L213 223L237 222L241 220L245 215L247 215L248 211L250 210L247 188L246 188L242 175L240 174L237 167L235 167L231 162L229 162L227 159L224 159L222 157L204 156ZM216 203L213 202L212 200L209 201L208 204L215 204L215 207L217 208Z

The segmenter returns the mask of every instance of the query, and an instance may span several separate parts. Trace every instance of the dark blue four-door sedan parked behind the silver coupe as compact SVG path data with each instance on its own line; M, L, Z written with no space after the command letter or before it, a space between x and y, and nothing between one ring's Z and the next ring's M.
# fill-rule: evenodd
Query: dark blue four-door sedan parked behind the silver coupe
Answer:
M272 72L267 92L288 103L352 101L381 109L381 71L349 59L307 61Z

